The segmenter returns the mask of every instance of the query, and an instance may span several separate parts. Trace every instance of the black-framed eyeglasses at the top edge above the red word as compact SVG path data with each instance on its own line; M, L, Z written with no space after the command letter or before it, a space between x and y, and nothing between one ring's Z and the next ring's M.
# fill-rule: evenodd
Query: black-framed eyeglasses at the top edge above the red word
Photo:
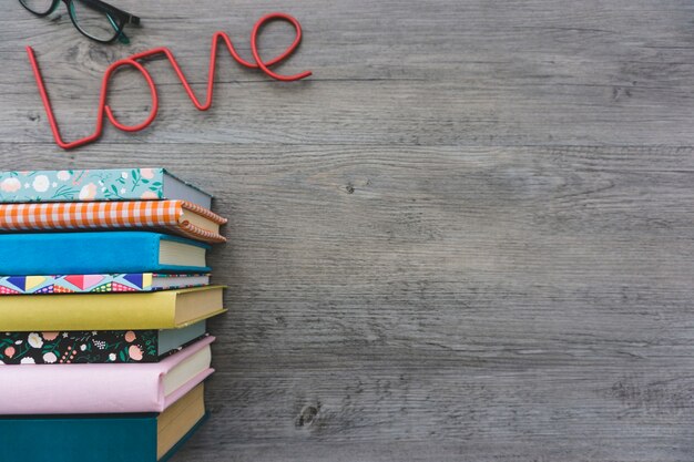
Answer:
M125 24L140 24L140 18L100 0L62 0L74 27L85 37L101 43L130 43L123 33ZM38 17L55 11L61 0L19 0Z

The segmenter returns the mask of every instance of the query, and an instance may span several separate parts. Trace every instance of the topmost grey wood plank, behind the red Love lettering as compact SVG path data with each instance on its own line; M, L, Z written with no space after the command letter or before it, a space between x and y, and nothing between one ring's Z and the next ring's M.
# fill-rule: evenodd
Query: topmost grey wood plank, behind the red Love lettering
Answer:
M156 3L123 2L156 18ZM206 79L208 41L228 30L248 53L262 12L299 18L305 43L283 69L315 76L280 84L222 60L217 100L198 114L164 62L149 65L163 105L143 141L285 144L692 144L692 6L614 0L589 2L241 2L220 16L208 0L197 14L164 14L136 31L132 48L103 50L75 34L67 18L41 21L20 9L0 19L2 125L14 140L50 133L23 52L31 43L72 137L93 124L100 76L130 52L170 44L196 82ZM238 8L238 9L237 9ZM238 13L236 13L238 11ZM289 40L286 27L264 35L267 53ZM647 31L647 32L646 32ZM55 40L65 43L57 47ZM265 42L265 41L264 41ZM25 85L18 88L20 78ZM140 121L149 95L142 79L122 75L114 106ZM134 85L140 90L125 91ZM202 85L197 85L202 91ZM118 94L118 96L115 96ZM78 103L79 102L79 103ZM69 115L68 115L69 114ZM129 135L109 133L109 141Z

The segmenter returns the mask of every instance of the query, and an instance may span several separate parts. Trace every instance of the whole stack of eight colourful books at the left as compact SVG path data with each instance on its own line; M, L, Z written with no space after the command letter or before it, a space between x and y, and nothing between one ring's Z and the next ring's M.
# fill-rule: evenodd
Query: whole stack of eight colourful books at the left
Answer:
M163 168L0 173L0 461L163 461L202 424L211 205Z

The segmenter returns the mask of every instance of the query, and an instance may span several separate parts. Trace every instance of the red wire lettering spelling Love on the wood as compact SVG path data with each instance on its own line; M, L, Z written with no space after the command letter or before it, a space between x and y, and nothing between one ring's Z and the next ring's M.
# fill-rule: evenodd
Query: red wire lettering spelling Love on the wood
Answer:
M276 58L273 58L269 61L263 61L261 59L261 55L257 49L257 35L258 35L261 28L265 23L273 21L273 20L284 20L284 21L290 22L294 25L296 35L294 38L294 42L292 42L292 44L282 54L277 55ZM212 35L212 52L210 55L210 74L207 76L207 99L204 104L201 103L195 96L195 94L193 93L191 85L185 79L185 75L183 74L183 71L181 70L181 66L176 62L176 59L174 58L171 50L169 50L167 48L154 48L152 50L143 51L142 53L132 54L127 58L115 61L114 63L109 65L109 68L106 68L103 74L102 83L101 83L101 95L99 99L99 112L96 113L96 129L94 130L94 133L81 140L75 140L72 142L64 142L63 138L60 136L60 131L58 130L58 122L55 122L55 116L53 115L53 110L51 109L51 102L49 101L48 93L45 91L45 85L43 84L43 78L41 76L41 71L39 70L39 63L37 62L37 58L33 53L33 49L31 47L27 47L29 61L31 62L33 74L37 79L37 84L39 85L39 93L41 94L41 100L43 100L43 106L45 107L45 114L51 125L51 131L53 132L53 137L55 138L55 143L63 150L71 150L73 147L83 146L84 144L89 144L89 143L96 141L101 136L101 133L103 131L104 113L106 117L109 119L109 121L113 124L113 126L124 132L136 132L149 126L154 121L154 117L156 117L156 112L159 110L159 99L156 96L156 85L154 84L154 81L152 80L152 75L150 75L147 70L140 62L137 62L137 60L149 58L154 54L160 54L160 53L164 54L169 59L169 61L171 61L171 65L173 66L174 72L176 73L176 75L178 75L178 79L181 80L181 83L183 84L185 92L191 97L191 101L193 102L195 107L200 111L208 110L210 106L212 105L212 90L214 88L214 71L215 71L215 62L216 62L216 55L217 55L217 44L220 40L224 41L224 44L226 44L226 48L228 49L229 53L239 64L246 68L251 68L251 69L259 69L261 71L263 71L264 73L266 73L273 79L280 80L284 82L290 82L290 81L307 78L312 74L310 71L305 71L305 72L300 72L294 75L282 75L282 74L277 74L273 72L269 69L271 65L277 64L278 62L283 61L284 59L289 57L294 52L294 50L296 50L299 42L302 41L302 27L299 22L289 14L286 14L286 13L266 14L255 23L255 25L253 27L253 31L251 32L251 51L253 52L253 59L255 60L255 63L248 62L244 60L243 58L241 58L241 55L234 49L234 45L232 44L232 41L229 40L226 33L215 32L214 35ZM113 74L115 70L125 65L132 66L136 69L137 71L140 71L144 80L147 82L147 85L150 85L150 92L151 92L151 97L152 97L152 110L150 111L150 115L147 116L147 119L137 125L124 125L120 123L118 119L115 119L115 115L113 115L113 111L111 110L111 107L106 104L106 94L108 94L109 81L111 79L111 75Z

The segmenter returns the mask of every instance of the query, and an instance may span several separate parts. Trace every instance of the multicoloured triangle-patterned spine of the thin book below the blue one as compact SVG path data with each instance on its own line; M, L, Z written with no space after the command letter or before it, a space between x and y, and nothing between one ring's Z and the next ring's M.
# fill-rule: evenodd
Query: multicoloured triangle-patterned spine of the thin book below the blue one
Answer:
M150 290L152 290L152 273L0 277L0 295L132 292Z

